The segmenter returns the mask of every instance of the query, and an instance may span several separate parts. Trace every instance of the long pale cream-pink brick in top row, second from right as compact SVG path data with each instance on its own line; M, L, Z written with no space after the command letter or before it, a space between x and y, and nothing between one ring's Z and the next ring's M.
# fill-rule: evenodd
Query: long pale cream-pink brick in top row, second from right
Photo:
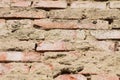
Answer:
M71 8L106 9L106 2L74 1Z

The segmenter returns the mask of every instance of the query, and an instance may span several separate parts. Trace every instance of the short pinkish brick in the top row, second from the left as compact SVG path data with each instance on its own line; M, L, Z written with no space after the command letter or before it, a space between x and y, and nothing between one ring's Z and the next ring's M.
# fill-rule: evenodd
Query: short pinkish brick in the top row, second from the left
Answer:
M31 5L31 1L18 1L13 0L11 3L12 7L29 7Z

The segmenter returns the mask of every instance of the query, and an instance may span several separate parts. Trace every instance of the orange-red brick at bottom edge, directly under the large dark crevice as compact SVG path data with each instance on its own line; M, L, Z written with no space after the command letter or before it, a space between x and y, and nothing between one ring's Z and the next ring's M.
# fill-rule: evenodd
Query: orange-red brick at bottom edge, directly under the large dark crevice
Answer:
M81 74L60 75L55 80L87 80L87 78Z

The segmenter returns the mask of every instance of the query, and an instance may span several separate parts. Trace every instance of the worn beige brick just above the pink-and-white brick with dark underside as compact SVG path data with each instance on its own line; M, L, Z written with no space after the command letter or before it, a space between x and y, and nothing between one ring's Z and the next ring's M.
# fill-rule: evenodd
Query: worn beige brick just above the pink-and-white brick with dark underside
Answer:
M63 36L64 35L64 36ZM86 37L84 30L49 30L45 34L46 40L84 40Z

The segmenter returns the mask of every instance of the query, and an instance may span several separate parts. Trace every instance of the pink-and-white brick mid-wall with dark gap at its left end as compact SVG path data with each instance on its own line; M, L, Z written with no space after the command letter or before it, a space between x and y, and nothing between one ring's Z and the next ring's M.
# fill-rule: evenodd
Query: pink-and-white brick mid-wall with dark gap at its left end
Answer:
M56 41L56 42L40 42L37 44L37 51L65 51L71 50L71 44L64 41Z

